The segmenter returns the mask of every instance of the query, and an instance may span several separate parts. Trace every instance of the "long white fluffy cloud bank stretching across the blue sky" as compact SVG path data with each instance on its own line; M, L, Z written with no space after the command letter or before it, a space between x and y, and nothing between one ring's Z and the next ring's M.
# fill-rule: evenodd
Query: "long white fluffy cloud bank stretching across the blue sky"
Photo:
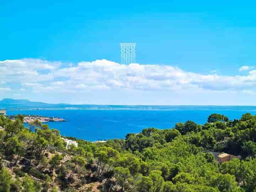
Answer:
M242 70L245 69L246 66L242 66ZM244 76L202 75L169 65L120 65L104 59L70 64L66 68L62 68L60 62L40 59L5 60L0 61L0 75L5 82L16 82L34 92L167 90L247 93L256 85L256 70Z

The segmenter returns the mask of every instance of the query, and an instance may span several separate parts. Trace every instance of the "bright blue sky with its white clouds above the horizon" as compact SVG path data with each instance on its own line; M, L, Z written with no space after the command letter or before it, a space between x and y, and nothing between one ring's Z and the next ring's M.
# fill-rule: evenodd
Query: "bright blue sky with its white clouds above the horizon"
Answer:
M0 99L256 105L255 4L1 1ZM119 66L120 42L139 65Z

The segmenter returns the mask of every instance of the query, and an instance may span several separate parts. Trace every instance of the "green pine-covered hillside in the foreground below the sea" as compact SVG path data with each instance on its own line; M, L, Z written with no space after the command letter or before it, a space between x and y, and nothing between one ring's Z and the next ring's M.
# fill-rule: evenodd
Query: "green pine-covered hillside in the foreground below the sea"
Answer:
M0 117L0 192L256 192L256 116L143 129L65 148L56 129ZM75 140L75 138L73 138ZM211 151L240 155L219 164Z

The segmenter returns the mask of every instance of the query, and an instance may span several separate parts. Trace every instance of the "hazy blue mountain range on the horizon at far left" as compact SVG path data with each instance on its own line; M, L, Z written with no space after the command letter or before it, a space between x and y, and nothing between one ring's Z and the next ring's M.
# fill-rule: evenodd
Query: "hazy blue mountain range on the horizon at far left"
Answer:
M11 98L4 98L0 101L0 108L2 109L10 109L10 108L63 108L63 107L70 107L72 105L59 103L59 104L50 104L50 103L43 103L43 102L32 102L25 99L11 99Z

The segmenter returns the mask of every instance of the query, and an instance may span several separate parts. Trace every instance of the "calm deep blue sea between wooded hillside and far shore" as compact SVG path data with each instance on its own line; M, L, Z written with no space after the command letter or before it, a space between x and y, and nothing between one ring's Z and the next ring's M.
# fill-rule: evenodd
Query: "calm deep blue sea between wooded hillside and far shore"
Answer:
M60 134L89 141L125 138L127 133L139 133L144 128L172 128L177 122L192 120L204 124L211 113L220 113L230 119L242 114L256 114L252 106L108 106L107 108L79 110L7 110L12 114L33 114L60 117L67 122L49 122L50 128Z

